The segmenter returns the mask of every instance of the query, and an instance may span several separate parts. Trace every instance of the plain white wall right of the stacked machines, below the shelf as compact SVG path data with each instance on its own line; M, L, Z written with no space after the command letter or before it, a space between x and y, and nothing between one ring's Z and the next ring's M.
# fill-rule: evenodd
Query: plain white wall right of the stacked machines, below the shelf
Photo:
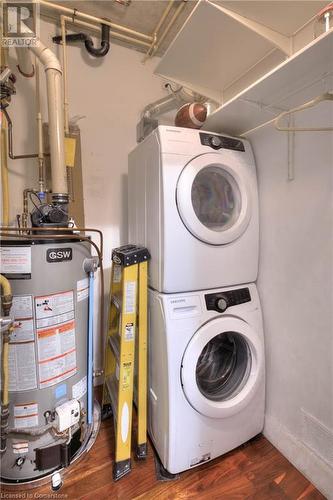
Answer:
M332 126L333 105L303 113L302 123ZM333 498L332 134L296 134L293 181L287 134L266 127L250 140L260 192L265 434Z

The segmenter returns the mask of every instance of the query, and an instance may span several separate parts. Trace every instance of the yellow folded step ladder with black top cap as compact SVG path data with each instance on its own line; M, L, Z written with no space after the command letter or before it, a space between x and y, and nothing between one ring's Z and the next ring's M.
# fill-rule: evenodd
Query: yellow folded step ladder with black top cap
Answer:
M136 456L147 456L147 292L149 252L125 245L112 251L109 324L105 346L103 414L115 427L117 481L131 470L134 375L138 416ZM135 364L137 366L135 366Z

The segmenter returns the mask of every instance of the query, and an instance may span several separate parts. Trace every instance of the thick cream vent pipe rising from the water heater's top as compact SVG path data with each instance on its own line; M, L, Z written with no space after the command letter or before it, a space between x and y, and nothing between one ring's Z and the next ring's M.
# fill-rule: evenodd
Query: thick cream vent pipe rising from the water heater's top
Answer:
M26 26L26 33L30 30ZM38 40L30 50L43 64L47 84L49 117L52 201L68 203L67 171L65 162L64 110L62 102L62 69L56 55Z

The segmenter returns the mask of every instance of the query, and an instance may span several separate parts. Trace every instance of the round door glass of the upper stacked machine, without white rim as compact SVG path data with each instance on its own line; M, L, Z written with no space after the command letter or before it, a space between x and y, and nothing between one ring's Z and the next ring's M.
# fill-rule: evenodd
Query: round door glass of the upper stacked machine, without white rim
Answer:
M225 231L239 218L239 188L235 179L218 166L205 167L195 176L191 199L199 221L212 231Z

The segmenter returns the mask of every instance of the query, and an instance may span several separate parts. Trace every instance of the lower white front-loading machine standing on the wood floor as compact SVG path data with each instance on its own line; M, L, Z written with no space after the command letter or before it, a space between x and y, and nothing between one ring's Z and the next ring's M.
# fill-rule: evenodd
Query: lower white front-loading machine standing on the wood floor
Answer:
M175 474L262 431L261 308L253 284L149 298L149 434Z

